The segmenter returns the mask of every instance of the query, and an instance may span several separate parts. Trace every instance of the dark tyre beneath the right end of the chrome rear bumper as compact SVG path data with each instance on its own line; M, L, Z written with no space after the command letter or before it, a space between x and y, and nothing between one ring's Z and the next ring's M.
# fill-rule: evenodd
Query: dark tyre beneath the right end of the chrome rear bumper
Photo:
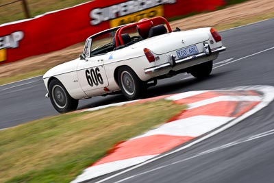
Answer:
M213 62L205 62L203 64L199 64L193 66L190 70L190 74L198 79L203 79L204 77L208 77L212 71Z

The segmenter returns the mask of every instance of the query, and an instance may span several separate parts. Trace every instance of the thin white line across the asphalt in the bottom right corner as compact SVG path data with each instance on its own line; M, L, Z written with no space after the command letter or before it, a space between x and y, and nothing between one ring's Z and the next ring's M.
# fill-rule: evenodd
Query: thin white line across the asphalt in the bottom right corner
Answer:
M234 141L234 142L232 142L232 143L227 143L227 144L225 144L225 145L221 145L221 146L219 146L219 147L214 147L214 148L209 149L209 150L207 150L207 151L203 151L203 152L201 152L201 153L199 153L199 154L196 154L196 155L194 155L194 156L190 156L189 158L185 158L185 159L183 159L183 160L175 161L175 162L172 162L172 163L170 163L170 164L162 165L161 167L158 167L158 168L155 168L155 169L151 169L151 170L149 170L149 171L144 171L144 172L142 172L142 173L138 173L138 174L136 174L136 175L132 175L132 176L130 176L130 177L128 177L128 178L124 178L124 179L122 179L122 180L116 181L115 183L124 182L125 180L129 180L129 179L132 179L132 178L136 178L137 176L140 176L140 175L144 175L144 174L147 174L147 173L151 173L152 171L157 171L157 170L159 170L159 169L164 169L164 168L166 168L166 167L171 167L171 166L173 166L174 164L178 164L178 163L180 163L180 162L185 162L186 160L191 160L191 159L194 159L194 158L198 158L199 156L203 156L203 155L210 154L210 153L213 153L213 152L216 152L216 151L220 151L220 150L222 150L222 149L227 149L227 148L229 148L229 147L234 147L235 145L239 145L239 144L242 144L242 143L247 143L247 142L249 142L249 141L253 141L253 140L256 140L256 139L258 139L258 138L263 138L264 136L269 136L269 135L272 135L272 134L274 134L274 130L269 130L269 131L264 132L264 133L262 133L262 134L257 134L257 135L255 135L255 136L250 136L250 137L247 137L247 138L242 138L242 139L240 139L240 140L238 140L238 141Z

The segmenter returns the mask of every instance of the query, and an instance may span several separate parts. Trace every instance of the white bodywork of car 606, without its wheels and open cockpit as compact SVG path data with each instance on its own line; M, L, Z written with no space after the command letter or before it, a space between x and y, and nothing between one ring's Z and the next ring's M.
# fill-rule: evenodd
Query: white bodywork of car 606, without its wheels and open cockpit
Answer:
M90 36L84 48L84 53L86 53L84 60L77 58L55 66L45 73L43 80L49 91L49 97L51 97L49 82L53 78L62 83L73 99L114 93L121 90L117 76L117 71L121 66L132 69L142 82L149 82L164 78L165 75L171 73L186 72L191 66L215 60L219 52L225 50L225 47L221 40L215 40L211 31L211 27L181 32L170 32L169 29L166 34L136 41L121 49L87 56L90 53L92 42L92 36ZM117 33L116 35L119 36ZM144 53L145 48L153 54L155 61L148 61ZM188 53L189 56L183 56L191 49L198 53Z

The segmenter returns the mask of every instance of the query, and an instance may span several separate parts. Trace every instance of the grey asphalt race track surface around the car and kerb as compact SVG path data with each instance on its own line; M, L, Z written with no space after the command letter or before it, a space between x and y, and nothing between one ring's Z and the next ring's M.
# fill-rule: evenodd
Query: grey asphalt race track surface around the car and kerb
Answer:
M147 97L246 85L274 86L273 32L274 19L221 32L227 51L215 60L210 77L196 80L181 74L161 80L149 88ZM0 86L0 128L58 114L45 93L40 77ZM125 101L123 95L94 97L80 101L79 109L119 101ZM274 129L273 109L272 102L206 141L106 182L274 182L274 142L270 131ZM262 135L263 132L267 133ZM257 134L261 135L247 141Z

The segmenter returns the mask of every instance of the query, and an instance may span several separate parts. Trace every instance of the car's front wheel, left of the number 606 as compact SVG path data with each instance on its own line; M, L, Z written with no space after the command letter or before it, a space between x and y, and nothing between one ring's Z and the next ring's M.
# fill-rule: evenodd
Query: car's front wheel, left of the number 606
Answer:
M73 99L59 80L52 80L49 83L49 97L55 110L60 113L76 110L78 100Z

